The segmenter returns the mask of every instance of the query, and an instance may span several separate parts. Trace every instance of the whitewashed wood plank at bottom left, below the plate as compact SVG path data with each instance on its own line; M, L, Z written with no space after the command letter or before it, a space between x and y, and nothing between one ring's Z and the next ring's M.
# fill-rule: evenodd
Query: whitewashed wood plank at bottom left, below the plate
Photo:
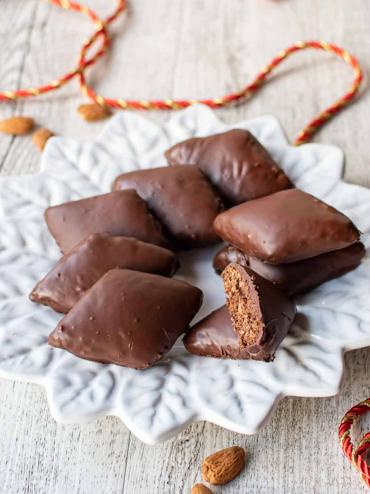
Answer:
M129 433L116 417L62 425L42 388L0 380L1 492L122 492Z

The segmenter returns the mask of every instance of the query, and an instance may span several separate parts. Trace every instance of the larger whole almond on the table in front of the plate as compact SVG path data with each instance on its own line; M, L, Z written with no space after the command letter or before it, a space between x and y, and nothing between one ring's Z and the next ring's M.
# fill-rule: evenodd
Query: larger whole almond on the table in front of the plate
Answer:
M214 486L226 484L243 468L244 459L244 450L239 446L218 451L203 461L202 477Z

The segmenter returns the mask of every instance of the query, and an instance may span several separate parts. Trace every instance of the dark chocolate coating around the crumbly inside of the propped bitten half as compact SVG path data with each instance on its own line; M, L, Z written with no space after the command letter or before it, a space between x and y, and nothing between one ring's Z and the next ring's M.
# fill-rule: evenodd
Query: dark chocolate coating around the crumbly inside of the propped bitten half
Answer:
M271 362L274 360L275 350L288 334L289 328L293 323L296 315L296 304L279 287L259 276L252 269L239 264L230 263L222 272L223 279L227 275L228 269L235 269L243 283L252 288L250 298L258 308L260 322L262 323L262 328L256 341L245 347L245 350L251 354L251 358L254 360ZM238 330L234 324L233 310L229 305L228 297L226 298L226 305L228 305L233 326ZM244 348L240 334L239 345Z

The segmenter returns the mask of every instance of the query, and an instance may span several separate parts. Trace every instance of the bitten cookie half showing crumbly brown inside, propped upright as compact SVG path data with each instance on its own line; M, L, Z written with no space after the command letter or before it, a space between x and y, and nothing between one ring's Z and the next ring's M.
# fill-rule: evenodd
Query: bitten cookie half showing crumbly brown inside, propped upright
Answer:
M276 285L239 264L229 264L222 279L240 348L255 360L272 361L293 322L296 304Z

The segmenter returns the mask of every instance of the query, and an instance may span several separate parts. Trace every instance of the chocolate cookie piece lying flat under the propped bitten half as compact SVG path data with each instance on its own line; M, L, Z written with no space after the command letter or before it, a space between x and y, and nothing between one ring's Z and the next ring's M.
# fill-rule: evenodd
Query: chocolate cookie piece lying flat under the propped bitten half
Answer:
M211 312L189 329L183 341L188 352L200 357L244 360L256 358L256 354L240 348L238 333L232 326L226 305Z

